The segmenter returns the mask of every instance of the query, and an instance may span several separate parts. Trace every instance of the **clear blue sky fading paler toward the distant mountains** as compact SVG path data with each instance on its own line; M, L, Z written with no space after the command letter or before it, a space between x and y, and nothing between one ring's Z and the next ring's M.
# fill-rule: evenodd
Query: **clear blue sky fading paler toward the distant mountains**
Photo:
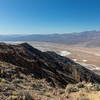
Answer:
M0 34L100 30L100 0L0 0Z

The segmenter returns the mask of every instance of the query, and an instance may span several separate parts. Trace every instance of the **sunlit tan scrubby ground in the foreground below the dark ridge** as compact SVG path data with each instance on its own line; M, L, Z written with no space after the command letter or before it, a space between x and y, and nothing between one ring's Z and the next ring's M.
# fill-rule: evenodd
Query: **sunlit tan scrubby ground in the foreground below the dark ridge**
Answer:
M5 78L1 78L0 80L0 83L2 83L2 85L0 85L0 91L1 93L5 91L10 98L9 100L34 100L34 98L37 100L47 100L47 98L53 98L55 100L57 98L62 98L62 95L64 96L62 100L66 100L65 95L67 95L67 93L69 94L67 98L71 100L74 99L76 94L77 96L75 100L77 100L77 98L80 98L80 100L91 100L90 97L92 95L93 98L97 98L99 96L97 93L100 91L100 84L79 82L78 84L67 85L66 89L60 89L51 87L44 79L35 79L31 74L26 76L21 73L21 75L24 76L24 78L16 78L16 75L13 74L14 79L11 82L6 82L7 80L5 80ZM86 92L87 90L88 92Z

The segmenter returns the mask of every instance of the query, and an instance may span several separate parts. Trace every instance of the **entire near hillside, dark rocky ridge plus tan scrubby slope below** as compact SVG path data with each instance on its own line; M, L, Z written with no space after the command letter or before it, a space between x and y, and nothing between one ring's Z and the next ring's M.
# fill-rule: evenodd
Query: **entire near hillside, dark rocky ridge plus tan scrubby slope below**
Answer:
M99 75L55 52L0 44L0 100L89 100L86 91L96 93L99 84Z

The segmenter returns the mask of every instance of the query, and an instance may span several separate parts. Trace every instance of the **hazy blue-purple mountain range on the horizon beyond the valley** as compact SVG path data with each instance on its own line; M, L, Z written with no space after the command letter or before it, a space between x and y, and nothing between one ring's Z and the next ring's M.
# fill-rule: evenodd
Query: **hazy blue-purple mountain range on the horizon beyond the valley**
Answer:
M100 31L85 31L80 33L49 35L2 35L0 36L0 41L38 41L98 47L100 46Z

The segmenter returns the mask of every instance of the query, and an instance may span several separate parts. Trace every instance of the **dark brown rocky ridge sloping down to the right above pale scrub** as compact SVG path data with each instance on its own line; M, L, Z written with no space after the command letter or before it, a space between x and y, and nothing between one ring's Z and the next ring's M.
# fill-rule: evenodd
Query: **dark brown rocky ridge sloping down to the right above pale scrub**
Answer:
M54 52L41 52L27 43L19 45L0 44L0 61L33 73L36 78L45 78L52 86L65 87L68 83L80 81L100 83L100 76L69 58Z

